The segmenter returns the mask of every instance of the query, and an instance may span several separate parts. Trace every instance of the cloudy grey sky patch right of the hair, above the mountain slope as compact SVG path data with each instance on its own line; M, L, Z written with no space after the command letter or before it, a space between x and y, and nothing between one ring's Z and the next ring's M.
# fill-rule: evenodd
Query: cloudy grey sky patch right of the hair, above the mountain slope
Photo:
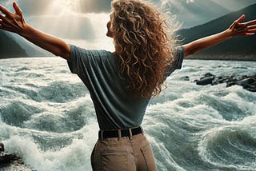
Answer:
M209 22L212 19L230 14L246 6L254 4L255 0L151 0L160 3L165 10L171 11L176 20L182 23L182 29L188 29Z

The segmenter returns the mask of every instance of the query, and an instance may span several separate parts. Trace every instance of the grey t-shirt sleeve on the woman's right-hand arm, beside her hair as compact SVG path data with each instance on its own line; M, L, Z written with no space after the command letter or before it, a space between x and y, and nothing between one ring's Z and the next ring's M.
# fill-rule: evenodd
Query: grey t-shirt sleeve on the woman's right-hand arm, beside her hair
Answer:
M165 76L168 77L174 72L174 70L179 70L182 68L182 62L184 59L184 46L178 46L174 50L174 61L167 67Z

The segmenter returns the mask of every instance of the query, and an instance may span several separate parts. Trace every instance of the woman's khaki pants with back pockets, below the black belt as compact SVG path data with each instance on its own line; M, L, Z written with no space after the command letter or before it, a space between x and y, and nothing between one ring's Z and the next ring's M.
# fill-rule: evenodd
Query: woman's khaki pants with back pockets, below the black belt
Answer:
M140 133L129 137L98 139L91 154L94 171L154 171L149 141Z

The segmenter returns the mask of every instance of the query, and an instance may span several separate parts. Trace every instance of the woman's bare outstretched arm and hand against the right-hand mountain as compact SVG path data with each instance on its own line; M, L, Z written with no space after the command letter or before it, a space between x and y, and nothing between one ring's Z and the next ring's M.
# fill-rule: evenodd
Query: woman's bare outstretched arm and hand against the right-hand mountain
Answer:
M254 35L256 32L256 20L241 23L245 18L246 16L242 15L240 18L238 18L238 20L233 22L230 28L221 33L214 34L206 38L200 38L194 42L184 45L185 56L194 54L210 46L217 45L218 43L224 42L230 38Z

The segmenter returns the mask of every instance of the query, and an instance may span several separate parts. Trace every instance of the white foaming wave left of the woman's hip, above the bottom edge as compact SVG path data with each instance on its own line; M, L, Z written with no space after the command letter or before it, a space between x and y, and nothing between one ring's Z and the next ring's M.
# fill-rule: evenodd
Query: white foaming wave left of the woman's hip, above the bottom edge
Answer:
M11 135L2 141L6 150L22 157L32 169L91 170L90 153L98 131L95 121L74 133L46 133L30 129L16 129L14 133L11 131L14 127L7 126L6 129L10 129Z

